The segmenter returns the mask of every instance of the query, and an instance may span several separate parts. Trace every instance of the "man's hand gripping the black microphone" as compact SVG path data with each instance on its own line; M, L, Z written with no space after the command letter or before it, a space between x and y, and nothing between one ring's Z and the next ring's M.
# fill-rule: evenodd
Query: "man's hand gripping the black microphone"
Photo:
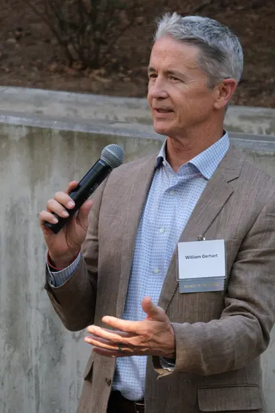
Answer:
M47 202L47 211L41 211L39 214L40 226L43 231L44 239L49 249L50 259L56 268L66 268L76 258L80 247L85 240L88 229L88 215L93 205L93 201L87 200L65 226L57 234L53 233L44 224L45 221L56 224L56 217L53 213L65 218L68 213L67 209L74 208L74 201L69 197L78 185L78 182L70 182L65 192L57 192L54 199ZM73 202L70 204L70 202ZM65 214L65 215L63 215ZM67 215L66 215L67 214Z

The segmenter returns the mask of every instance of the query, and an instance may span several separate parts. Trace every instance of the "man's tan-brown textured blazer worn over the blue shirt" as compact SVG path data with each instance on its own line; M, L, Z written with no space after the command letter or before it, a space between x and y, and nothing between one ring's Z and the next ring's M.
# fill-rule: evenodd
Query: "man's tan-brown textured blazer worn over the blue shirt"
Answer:
M50 288L69 330L122 317L135 234L156 156L115 169L95 194L83 256L65 285ZM180 241L225 240L224 291L179 294L177 253L159 297L175 329L174 372L148 357L146 413L263 413L260 354L275 307L274 180L230 147L209 180ZM91 354L78 413L105 413L115 359ZM159 378L159 379L157 379Z

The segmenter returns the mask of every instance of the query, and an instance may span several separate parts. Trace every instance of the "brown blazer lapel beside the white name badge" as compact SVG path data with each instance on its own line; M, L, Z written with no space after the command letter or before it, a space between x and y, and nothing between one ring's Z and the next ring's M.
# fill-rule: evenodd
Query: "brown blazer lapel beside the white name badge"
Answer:
M243 158L232 147L228 149L225 157L221 161L218 169L212 178L208 181L195 209L186 224L184 231L179 237L179 242L197 241L199 235L204 235L214 218L221 211L223 205L233 192L232 187L228 184L231 180L236 179L241 171ZM177 290L178 281L176 279L177 266L177 248L170 261L162 292L159 297L158 305L165 311Z

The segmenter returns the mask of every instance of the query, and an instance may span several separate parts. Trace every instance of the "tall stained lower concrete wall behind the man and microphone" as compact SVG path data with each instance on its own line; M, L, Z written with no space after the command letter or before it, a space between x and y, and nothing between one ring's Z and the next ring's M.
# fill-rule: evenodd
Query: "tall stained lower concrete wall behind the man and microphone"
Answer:
M68 131L69 121L51 127L47 122L52 120L34 127L37 119L0 116L1 413L75 413L90 350L83 332L63 328L43 290L46 249L38 214L46 200L80 179L105 145L118 143L130 161L157 152L163 139L145 127L94 123ZM261 142L233 136L235 145L275 176L272 136ZM274 339L275 334L263 355L268 413L275 411Z

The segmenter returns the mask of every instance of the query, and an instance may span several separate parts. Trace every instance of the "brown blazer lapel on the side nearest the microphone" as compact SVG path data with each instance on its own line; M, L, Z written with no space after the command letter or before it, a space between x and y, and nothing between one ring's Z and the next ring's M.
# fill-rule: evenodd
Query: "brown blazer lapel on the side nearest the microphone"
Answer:
M131 173L129 179L124 182L125 186L123 191L128 195L128 198L123 204L124 220L121 228L121 271L116 308L116 314L119 318L122 317L124 311L135 247L135 237L143 205L146 201L146 195L155 173L156 160L157 155L146 158L144 162L140 163L136 171Z

